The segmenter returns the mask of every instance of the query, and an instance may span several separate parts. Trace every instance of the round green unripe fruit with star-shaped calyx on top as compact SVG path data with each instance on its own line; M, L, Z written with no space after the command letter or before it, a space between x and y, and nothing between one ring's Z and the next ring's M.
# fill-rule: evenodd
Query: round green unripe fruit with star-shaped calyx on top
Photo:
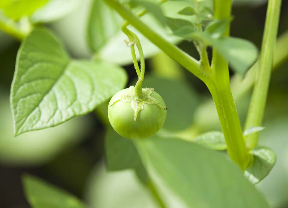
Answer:
M120 90L110 100L108 118L114 130L128 139L153 136L166 119L166 105L152 88L142 88L143 95L136 96L134 87Z

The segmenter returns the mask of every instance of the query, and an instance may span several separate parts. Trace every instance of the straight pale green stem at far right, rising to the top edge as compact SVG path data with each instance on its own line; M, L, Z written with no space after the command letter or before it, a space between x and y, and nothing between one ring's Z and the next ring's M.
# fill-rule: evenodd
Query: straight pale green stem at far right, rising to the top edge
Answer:
M280 8L281 0L269 0L257 77L245 124L246 129L262 125L273 65ZM257 145L258 137L259 133L253 133L246 137L248 148L252 149Z

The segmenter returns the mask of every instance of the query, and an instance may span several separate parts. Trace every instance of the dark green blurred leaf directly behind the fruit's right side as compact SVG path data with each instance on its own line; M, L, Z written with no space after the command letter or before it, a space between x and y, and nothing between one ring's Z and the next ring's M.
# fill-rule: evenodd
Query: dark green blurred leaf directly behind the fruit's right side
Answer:
M143 87L155 87L155 91L166 103L167 117L163 128L171 131L183 130L192 123L199 96L186 81L146 75Z

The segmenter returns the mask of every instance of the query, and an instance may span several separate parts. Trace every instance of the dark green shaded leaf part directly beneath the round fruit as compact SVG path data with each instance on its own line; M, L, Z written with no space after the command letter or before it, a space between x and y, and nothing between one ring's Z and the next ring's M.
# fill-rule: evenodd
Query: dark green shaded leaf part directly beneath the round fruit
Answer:
M133 141L120 136L111 127L105 136L105 155L108 170L134 169L143 182L147 181L146 170Z

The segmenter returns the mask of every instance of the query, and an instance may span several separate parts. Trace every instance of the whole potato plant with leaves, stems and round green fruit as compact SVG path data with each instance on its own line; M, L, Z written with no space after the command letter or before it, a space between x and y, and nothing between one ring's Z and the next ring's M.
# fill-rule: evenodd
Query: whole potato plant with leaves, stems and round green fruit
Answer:
M133 170L149 190L151 206L270 207L255 184L276 163L274 151L258 140L271 72L288 57L287 33L277 42L281 0L268 1L260 50L230 36L237 18L232 0L94 0L85 59L68 53L46 26L77 9L77 2L0 3L0 29L21 41L10 89L14 135L96 112L105 126L107 170ZM111 44L116 34L120 38ZM179 47L183 41L198 54ZM145 60L157 51L158 76L145 74ZM128 84L122 66L130 63L137 79ZM177 80L179 66L205 84L210 100L198 103ZM250 89L242 125L235 103ZM32 207L91 207L34 176L22 179Z

